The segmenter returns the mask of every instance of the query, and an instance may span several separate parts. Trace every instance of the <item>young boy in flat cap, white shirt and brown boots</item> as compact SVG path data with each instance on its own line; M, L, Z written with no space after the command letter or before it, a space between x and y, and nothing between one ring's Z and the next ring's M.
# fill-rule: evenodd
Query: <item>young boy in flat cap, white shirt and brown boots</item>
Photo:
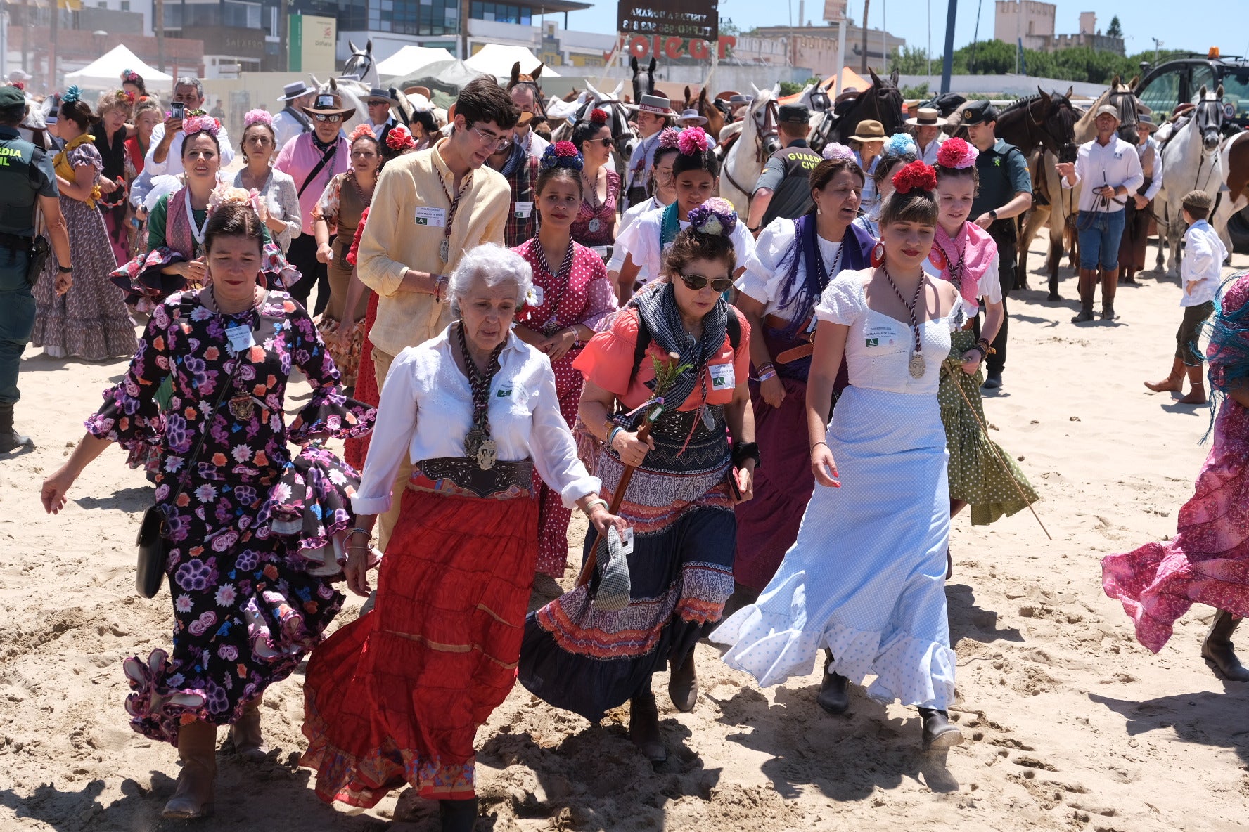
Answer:
M1182 393L1187 372L1189 392L1179 400L1180 404L1205 404L1205 372L1197 339L1202 333L1202 324L1214 312L1214 296L1219 292L1223 261L1228 257L1219 235L1205 221L1213 202L1205 191L1189 191L1184 195L1183 213L1188 231L1184 233L1184 259L1179 271L1179 281L1184 287L1179 301L1184 307L1184 321L1175 333L1175 362L1170 375L1162 382L1145 382L1145 387L1155 393Z

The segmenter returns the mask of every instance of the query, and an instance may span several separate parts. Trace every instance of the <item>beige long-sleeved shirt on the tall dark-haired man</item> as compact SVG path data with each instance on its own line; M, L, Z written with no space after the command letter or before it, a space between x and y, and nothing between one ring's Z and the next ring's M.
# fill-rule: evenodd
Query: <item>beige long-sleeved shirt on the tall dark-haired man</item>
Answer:
M377 321L368 339L391 356L428 341L451 323L447 297L436 303L432 294L400 291L406 268L450 274L470 248L490 242L503 244L512 191L501 173L485 165L472 172L472 183L451 223L450 262L443 263L438 257L446 230L417 225L417 208L451 212L446 195L455 196L455 175L438 152L446 141L386 162L360 237L357 273L378 294ZM438 185L440 178L446 192Z

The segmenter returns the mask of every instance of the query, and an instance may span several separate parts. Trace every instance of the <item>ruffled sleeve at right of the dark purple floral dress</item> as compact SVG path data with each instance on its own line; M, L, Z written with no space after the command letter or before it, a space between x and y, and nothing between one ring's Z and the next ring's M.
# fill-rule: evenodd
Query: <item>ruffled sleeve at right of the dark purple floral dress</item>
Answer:
M368 433L377 418L377 410L362 402L348 399L338 387L338 368L333 365L321 334L302 306L282 294L269 303L281 303L295 339L291 359L304 370L312 387L312 398L287 429L287 438L304 444L322 435L335 439L355 439Z

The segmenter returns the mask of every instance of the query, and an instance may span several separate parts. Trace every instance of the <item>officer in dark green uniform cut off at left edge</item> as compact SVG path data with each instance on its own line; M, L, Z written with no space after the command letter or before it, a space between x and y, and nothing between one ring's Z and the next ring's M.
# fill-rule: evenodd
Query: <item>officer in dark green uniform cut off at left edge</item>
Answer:
M26 97L12 86L0 87L0 453L30 444L12 427L17 402L17 369L35 326L35 296L30 287L39 266L30 267L35 238L35 208L44 212L50 257L56 258L56 293L72 282L70 237L61 216L52 158L17 133L26 115Z

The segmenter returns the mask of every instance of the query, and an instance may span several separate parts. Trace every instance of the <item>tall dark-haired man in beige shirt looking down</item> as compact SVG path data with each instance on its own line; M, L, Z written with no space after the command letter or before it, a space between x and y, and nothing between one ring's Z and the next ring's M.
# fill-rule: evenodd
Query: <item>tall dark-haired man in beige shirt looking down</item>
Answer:
M361 282L378 296L377 321L368 333L378 389L400 351L451 323L446 283L460 257L481 243L503 244L511 188L485 162L511 143L518 116L507 91L493 79L480 77L461 91L450 137L382 168L357 256ZM396 495L410 474L405 459ZM398 508L396 499L378 518L382 549Z

